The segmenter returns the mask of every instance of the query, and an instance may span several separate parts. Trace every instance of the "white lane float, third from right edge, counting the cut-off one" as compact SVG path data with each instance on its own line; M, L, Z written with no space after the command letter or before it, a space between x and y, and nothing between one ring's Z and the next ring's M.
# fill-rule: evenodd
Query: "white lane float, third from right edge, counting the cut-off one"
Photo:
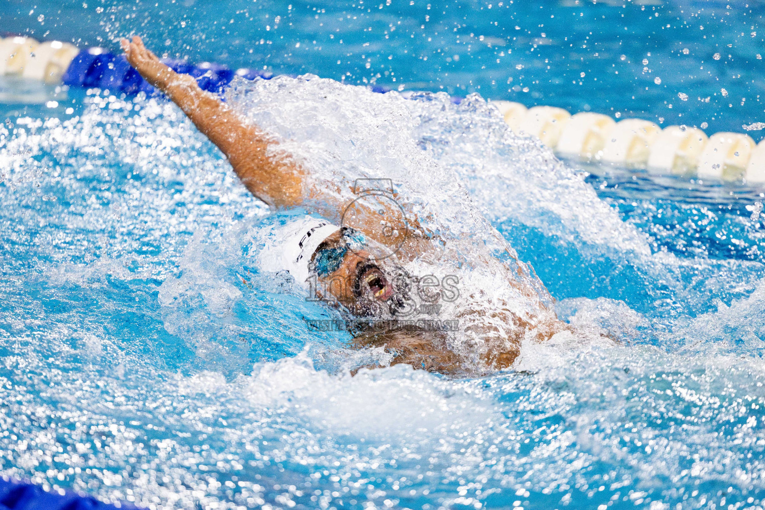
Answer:
M653 174L695 174L708 137L701 129L670 125L656 136L648 157Z

